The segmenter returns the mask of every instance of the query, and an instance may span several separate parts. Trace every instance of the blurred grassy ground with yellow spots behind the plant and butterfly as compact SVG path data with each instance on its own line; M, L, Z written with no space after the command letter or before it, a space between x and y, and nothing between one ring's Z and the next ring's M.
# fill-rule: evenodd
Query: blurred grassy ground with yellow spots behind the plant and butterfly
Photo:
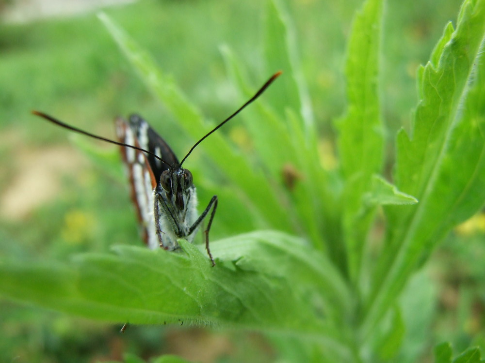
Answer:
M427 61L446 22L456 19L460 2L388 1L381 91L389 155L395 131L409 125L417 102L416 67ZM45 4L56 6L55 1ZM360 5L357 0L286 1L315 119L330 144L335 137L331 121L345 106L346 37ZM115 243L141 243L121 163L116 170L90 163L69 142L72 135L30 111L45 111L108 137L114 137L114 116L139 112L178 155L194 140L177 129L139 81L97 19L99 8L15 23L12 6L33 5L0 2L0 258L66 259L82 251L108 251ZM261 66L265 7L265 1L256 0L146 0L103 11L173 75L206 117L217 121L243 101L227 80L221 45L246 66L255 87L276 71ZM115 148L100 147L107 157L116 157ZM389 169L391 164L389 156ZM198 192L200 200L210 199L203 188ZM484 225L478 216L462 226L430 263L438 290L435 339L452 341L458 351L472 344L473 336L484 340L476 334L484 331L485 272L467 263L470 255L485 258ZM216 218L212 238L227 233ZM121 359L127 352L145 359L176 353L201 362L278 357L258 333L184 325L130 326L122 335L120 327L0 300L0 362L96 362Z

